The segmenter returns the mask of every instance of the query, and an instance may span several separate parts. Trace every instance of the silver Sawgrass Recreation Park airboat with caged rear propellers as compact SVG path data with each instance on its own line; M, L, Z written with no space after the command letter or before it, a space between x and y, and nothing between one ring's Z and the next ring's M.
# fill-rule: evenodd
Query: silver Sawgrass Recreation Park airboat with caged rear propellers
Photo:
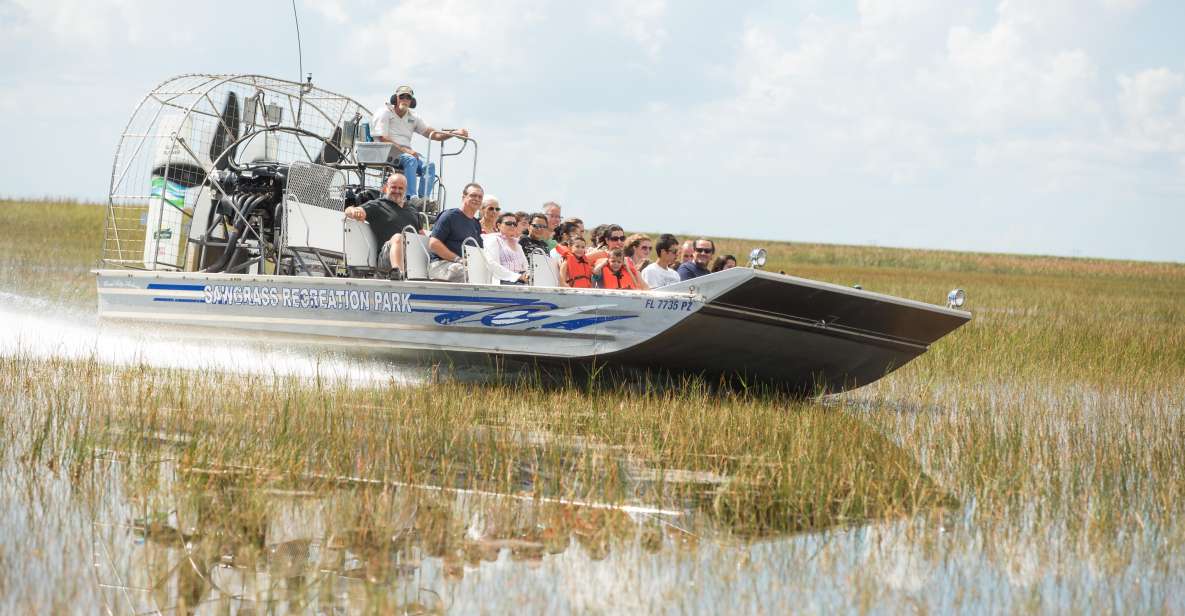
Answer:
M750 267L621 291L561 287L543 255L530 284L498 284L467 246L467 280L450 283L427 280L427 243L404 233L408 280L387 281L374 235L342 214L396 172L390 145L369 141L370 117L310 79L185 75L153 89L115 154L100 317L805 393L875 381L971 319L961 291L943 307L773 274L762 251ZM476 178L476 140L457 141L427 150L440 181L425 223L447 206L453 169Z

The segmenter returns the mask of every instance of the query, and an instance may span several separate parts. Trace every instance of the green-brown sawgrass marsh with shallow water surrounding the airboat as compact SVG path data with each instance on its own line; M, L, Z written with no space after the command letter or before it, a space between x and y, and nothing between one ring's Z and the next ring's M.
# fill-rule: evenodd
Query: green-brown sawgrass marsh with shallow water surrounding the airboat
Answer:
M9 313L94 320L102 214L0 203ZM0 325L0 611L1185 609L1185 267L766 248L963 287L974 320L808 400L46 357Z

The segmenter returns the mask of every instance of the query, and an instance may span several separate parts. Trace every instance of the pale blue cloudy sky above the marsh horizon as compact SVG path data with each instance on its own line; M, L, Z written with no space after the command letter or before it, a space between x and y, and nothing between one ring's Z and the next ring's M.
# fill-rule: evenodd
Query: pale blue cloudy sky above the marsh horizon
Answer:
M1185 2L296 0L296 13L316 85L377 110L411 84L431 126L470 130L504 208L1185 262ZM295 33L290 0L0 0L0 197L104 201L145 94L192 72L296 79Z

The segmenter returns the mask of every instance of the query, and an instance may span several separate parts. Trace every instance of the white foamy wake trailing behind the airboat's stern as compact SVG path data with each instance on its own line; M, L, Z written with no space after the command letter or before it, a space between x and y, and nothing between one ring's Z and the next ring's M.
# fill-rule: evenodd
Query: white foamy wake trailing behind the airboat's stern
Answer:
M419 383L428 373L424 365L347 357L312 346L275 348L232 338L210 340L200 333L155 325L101 326L95 313L5 291L0 291L0 355L95 359L116 366L274 374L358 385Z

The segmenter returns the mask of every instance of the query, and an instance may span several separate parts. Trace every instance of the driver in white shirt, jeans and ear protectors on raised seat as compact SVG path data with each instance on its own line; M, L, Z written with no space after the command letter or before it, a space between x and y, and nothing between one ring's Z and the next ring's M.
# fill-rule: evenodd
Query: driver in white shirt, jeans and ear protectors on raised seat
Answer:
M416 94L410 85L396 88L391 95L391 103L383 105L383 109L374 115L371 121L371 135L377 141L395 143L392 156L398 154L398 160L403 165L403 175L408 180L411 197L427 198L431 194L436 184L436 166L427 162L418 152L411 149L412 133L419 133L431 141L444 141L454 136L468 139L469 131L463 128L453 130L436 130L424 123L411 110L416 108ZM417 184L417 179L424 172L424 181Z

